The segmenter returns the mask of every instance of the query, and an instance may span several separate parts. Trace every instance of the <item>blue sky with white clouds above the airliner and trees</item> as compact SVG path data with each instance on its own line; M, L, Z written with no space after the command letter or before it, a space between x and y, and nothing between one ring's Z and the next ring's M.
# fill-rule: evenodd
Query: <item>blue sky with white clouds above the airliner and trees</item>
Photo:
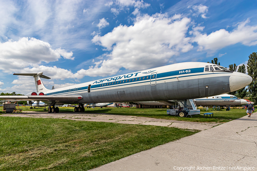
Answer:
M257 1L1 1L0 92L49 89L178 62L247 64Z

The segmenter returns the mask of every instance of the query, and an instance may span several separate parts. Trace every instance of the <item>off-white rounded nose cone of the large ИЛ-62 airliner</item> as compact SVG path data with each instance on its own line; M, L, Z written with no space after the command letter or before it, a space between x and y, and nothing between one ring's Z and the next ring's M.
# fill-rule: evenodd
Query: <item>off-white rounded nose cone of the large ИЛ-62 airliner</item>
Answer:
M233 72L229 78L230 91L241 89L252 82L252 77L241 72Z

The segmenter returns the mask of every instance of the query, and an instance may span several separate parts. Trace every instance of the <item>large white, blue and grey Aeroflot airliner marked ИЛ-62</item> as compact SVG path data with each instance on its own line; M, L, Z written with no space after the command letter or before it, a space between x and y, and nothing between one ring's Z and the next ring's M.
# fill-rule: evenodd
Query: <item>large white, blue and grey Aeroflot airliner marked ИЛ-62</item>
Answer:
M204 62L183 62L149 70L104 78L58 89L47 89L39 73L13 74L33 76L37 92L24 96L1 96L1 99L40 100L49 104L48 112L59 112L55 105L79 104L75 111L84 111L83 104L132 101L184 101L210 97L241 89L252 82L247 74Z

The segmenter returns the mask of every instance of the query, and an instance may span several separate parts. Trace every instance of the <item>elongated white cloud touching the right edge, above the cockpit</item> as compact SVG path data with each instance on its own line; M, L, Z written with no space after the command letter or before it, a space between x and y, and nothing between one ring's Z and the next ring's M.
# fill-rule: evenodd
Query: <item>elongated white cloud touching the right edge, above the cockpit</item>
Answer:
M256 45L257 26L247 25L249 22L250 19L237 23L237 27L231 32L220 29L207 35L206 33L202 34L198 30L194 30L193 34L195 37L192 38L192 42L198 43L198 51L216 51L236 43L242 43L247 46Z

